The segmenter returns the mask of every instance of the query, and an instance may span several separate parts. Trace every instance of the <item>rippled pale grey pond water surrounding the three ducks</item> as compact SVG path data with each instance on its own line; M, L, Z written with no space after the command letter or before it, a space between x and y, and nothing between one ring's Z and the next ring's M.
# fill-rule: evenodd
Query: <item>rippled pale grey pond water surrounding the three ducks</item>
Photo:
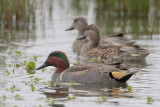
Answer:
M98 3L90 0L81 2L47 0L33 4L34 12L29 15L29 18L26 16L25 21L19 19L20 21L16 22L15 16L11 19L13 20L11 25L1 21L0 106L128 107L160 104L160 24L158 18L150 16L152 10L147 17L124 18L123 14L117 17L116 14L112 15L112 12L111 15L98 16L101 12L97 7ZM36 71L35 74L26 73L24 65L23 70L22 66L16 68L16 64L33 61L34 56L37 56L35 63L38 67L54 50L64 51L72 65L77 63L77 56L72 52L72 43L77 31L65 31L77 16L84 16L89 24L98 25L103 35L125 32L128 38L150 50L151 54L146 58L145 65L131 68L139 72L132 76L127 84L112 87L68 83L49 87L47 82L54 72L53 67L48 67L45 72ZM131 91L127 86L132 86ZM151 102L148 101L149 104L147 97L152 98Z

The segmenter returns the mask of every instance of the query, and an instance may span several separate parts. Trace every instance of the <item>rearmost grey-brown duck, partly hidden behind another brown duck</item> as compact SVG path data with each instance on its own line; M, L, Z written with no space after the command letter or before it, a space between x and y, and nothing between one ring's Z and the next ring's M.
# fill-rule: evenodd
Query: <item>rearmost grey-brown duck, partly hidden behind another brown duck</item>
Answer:
M84 34L85 28L88 26L87 20L83 17L75 18L73 21L72 26L66 31L76 29L78 30L78 37ZM82 46L87 43L86 39L81 41L75 40L73 43L73 51L80 55ZM123 33L117 35L110 35L110 36L102 36L100 41L100 45L108 45L108 44L133 44L133 41L127 39Z

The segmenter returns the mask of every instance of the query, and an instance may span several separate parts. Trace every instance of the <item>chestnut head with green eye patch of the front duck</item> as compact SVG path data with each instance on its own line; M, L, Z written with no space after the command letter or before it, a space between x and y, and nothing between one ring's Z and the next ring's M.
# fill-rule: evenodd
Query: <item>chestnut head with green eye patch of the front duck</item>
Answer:
M55 73L61 73L65 69L69 68L69 60L68 57L64 52L61 51L53 51L49 54L47 60L44 62L43 65L38 67L36 70L48 67L48 66L54 66L56 67Z

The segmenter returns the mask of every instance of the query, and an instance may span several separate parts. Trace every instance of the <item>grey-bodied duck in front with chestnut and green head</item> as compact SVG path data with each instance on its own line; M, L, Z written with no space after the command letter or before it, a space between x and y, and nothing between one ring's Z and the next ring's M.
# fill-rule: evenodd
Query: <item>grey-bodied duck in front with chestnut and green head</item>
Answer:
M37 70L47 66L56 67L56 71L52 75L52 81L55 82L124 83L134 74L102 64L78 64L70 67L68 57L61 51L50 53L45 63Z

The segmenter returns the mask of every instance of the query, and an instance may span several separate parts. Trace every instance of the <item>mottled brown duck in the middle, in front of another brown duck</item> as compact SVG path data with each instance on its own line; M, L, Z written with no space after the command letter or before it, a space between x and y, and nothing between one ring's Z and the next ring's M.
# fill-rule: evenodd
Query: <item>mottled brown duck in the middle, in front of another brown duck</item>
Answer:
M98 45L101 36L99 29L94 24L86 27L84 35L79 36L77 39L88 40L82 47L81 56L89 58L101 57L108 61L142 60L149 54L148 50L136 45Z

